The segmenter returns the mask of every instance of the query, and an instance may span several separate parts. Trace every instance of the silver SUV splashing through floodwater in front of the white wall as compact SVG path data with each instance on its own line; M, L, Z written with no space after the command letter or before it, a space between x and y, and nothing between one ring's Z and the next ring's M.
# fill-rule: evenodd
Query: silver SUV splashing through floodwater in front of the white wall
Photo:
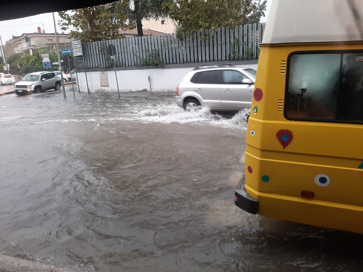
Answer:
M176 104L185 110L238 111L251 106L256 70L232 65L201 66L190 71L176 88Z

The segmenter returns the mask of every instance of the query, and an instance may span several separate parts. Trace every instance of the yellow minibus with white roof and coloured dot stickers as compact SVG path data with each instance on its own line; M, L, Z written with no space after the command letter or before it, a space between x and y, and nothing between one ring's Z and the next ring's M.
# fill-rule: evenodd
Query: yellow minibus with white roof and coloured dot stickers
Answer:
M363 233L363 1L272 1L235 205Z

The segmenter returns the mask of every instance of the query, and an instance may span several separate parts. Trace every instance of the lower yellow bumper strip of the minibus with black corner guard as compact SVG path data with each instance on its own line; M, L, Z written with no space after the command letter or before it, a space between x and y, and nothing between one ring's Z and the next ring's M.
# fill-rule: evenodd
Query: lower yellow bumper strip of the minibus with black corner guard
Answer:
M235 191L238 201L235 199L234 202L248 213L363 234L361 205L264 193L247 184L245 190Z

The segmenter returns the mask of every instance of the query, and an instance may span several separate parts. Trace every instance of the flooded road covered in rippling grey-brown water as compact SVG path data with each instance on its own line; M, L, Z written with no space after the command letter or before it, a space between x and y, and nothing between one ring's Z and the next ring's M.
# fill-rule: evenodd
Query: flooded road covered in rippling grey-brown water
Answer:
M362 271L362 236L250 215L245 112L174 94L0 98L0 253L74 271Z

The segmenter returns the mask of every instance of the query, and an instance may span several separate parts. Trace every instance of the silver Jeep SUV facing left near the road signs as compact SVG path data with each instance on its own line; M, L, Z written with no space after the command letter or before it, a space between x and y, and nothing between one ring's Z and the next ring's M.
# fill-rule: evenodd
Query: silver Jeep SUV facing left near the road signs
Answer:
M61 81L53 71L26 74L21 81L14 85L14 91L17 95L42 92L50 89L61 89Z

